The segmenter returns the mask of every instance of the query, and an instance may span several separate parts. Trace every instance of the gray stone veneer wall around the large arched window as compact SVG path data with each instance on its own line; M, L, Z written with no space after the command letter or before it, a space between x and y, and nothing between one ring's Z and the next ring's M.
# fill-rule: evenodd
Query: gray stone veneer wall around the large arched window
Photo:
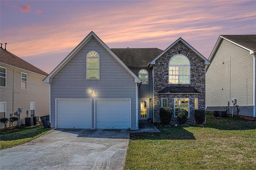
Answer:
M172 56L183 54L190 60L190 84L168 84L169 61ZM204 60L182 42L176 43L164 55L156 60L153 67L154 74L154 122L160 123L159 110L161 98L168 98L168 106L174 109L174 98L189 98L190 117L186 124L194 125L194 99L198 98L198 109L205 109L205 65ZM194 87L201 94L164 94L158 92L165 87ZM178 123L177 118L172 116L170 124Z

